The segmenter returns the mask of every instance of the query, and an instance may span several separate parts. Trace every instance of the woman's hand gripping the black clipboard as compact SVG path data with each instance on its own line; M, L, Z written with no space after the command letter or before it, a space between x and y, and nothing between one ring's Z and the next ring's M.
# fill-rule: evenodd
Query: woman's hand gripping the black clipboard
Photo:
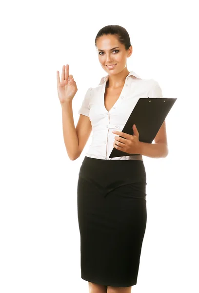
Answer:
M115 141L113 144L115 148L129 154L140 154L141 146L139 141L139 132L135 124L133 125L133 135L117 130L112 132L122 136L115 136Z

